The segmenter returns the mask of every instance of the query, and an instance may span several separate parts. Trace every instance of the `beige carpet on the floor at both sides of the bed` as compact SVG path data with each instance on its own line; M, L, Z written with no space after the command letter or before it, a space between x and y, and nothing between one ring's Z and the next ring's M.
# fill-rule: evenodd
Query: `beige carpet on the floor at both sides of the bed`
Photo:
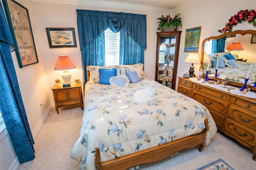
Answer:
M59 114L46 119L34 137L36 158L21 164L18 170L79 170L79 163L69 152L79 137L83 110L81 107L59 108ZM235 170L255 170L252 150L217 132L202 152L198 147L186 149L160 162L141 165L139 170L195 170L223 159Z

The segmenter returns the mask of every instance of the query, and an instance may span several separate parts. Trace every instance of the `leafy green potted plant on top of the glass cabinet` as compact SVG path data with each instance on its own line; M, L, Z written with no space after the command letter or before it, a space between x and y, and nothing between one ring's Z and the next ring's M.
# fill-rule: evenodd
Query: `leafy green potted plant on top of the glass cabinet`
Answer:
M168 16L163 16L161 18L157 18L159 20L158 24L158 30L162 32L166 31L177 31L177 27L182 27L181 18L179 17L180 14L176 14L174 18L170 17L170 14Z

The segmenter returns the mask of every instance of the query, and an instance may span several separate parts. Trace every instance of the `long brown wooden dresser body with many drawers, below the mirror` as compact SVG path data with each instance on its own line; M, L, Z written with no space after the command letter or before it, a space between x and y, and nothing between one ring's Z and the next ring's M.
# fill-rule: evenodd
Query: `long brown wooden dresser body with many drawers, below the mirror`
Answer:
M200 102L210 111L217 128L253 150L256 160L256 99L238 96L178 77L178 92Z

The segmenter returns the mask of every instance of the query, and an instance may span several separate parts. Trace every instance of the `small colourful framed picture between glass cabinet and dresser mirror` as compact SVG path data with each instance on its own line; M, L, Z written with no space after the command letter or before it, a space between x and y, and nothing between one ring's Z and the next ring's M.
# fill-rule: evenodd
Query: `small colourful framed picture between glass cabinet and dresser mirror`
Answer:
M201 33L201 27L186 29L185 41L184 41L184 52L198 53L200 33Z

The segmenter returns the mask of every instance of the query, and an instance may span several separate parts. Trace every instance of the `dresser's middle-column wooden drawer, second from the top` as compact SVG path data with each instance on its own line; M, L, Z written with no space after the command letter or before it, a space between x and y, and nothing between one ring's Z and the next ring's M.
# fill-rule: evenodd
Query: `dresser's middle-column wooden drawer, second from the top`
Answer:
M228 102L211 98L209 96L202 96L202 93L198 94L196 91L193 91L192 98L206 106L208 109L212 109L221 113L222 115L226 115Z

